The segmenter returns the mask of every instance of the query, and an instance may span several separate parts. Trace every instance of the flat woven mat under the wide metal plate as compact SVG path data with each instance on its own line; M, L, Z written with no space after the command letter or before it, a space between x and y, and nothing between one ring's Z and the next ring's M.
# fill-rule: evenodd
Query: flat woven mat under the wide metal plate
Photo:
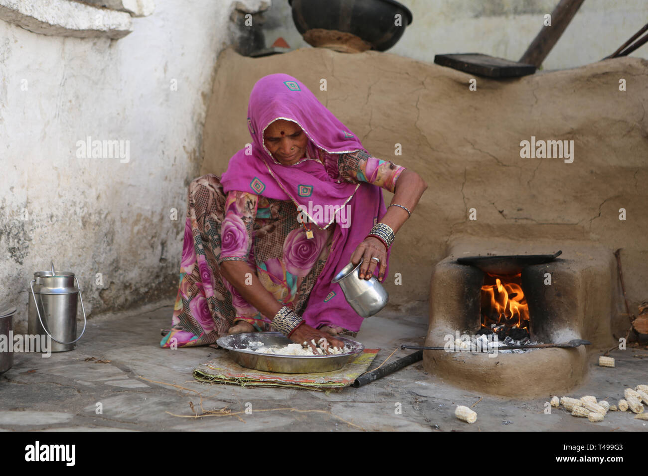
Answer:
M294 387L307 390L332 390L348 387L364 374L380 349L366 349L340 370L321 374L275 374L241 367L229 356L217 357L194 368L196 380L231 383L242 387Z

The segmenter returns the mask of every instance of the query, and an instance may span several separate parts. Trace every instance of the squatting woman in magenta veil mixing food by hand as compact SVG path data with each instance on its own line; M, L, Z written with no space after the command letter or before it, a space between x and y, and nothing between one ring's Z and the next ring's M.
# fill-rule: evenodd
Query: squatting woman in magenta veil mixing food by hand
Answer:
M270 74L252 89L253 142L189 187L180 284L162 347L279 330L297 343L360 329L332 278L388 271L389 245L426 189L414 172L371 157L305 85ZM394 192L386 209L380 187Z

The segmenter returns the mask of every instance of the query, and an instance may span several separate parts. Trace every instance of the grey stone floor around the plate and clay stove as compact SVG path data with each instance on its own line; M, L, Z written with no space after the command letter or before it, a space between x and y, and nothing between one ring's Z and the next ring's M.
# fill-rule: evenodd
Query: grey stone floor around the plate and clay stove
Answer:
M608 413L605 421L591 423L574 418L564 409L544 414L549 396L516 401L464 391L424 374L422 364L341 392L298 389L254 389L235 385L200 383L192 369L225 350L209 347L168 350L159 348L159 330L168 327L172 308L133 311L89 321L86 335L71 352L15 354L14 367L0 376L0 429L75 431L165 430L314 430L358 431L645 431L648 422L629 413ZM367 347L380 347L375 363L401 343L422 344L426 317L397 317L387 312L367 319L357 339ZM390 359L409 350L398 350ZM615 352L616 368L590 363L590 378L570 392L597 398L621 398L623 388L648 384L645 348ZM86 360L107 359L110 363ZM147 379L147 380L143 380ZM150 380L191 389L177 389ZM200 394L200 395L199 395ZM183 418L194 414L190 405L205 410L244 411L252 414ZM469 425L454 417L456 405L471 406L478 413ZM101 405L98 405L100 403ZM97 414L101 407L102 413ZM249 405L247 405L249 408ZM263 409L293 408L265 411ZM400 408L400 413L397 411ZM317 412L307 412L316 410ZM168 412L168 413L167 413Z

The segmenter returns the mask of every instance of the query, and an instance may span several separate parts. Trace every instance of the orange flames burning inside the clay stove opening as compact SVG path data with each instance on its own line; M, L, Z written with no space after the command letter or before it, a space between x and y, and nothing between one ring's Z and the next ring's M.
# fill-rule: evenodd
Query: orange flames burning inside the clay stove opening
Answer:
M522 291L522 275L498 276L486 273L481 286L481 330L526 341L529 333L529 306Z

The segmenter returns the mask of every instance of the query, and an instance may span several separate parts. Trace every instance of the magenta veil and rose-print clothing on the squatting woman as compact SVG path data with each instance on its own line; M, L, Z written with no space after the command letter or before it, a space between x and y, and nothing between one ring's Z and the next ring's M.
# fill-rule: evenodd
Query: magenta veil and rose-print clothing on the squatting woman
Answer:
M303 111L308 111L308 115ZM264 129L276 119L297 122L310 139L309 154L315 157L318 153L315 146L319 152L327 154L329 160L324 161L324 166L317 160L292 166L275 161L264 147L262 137ZM248 255L235 253L237 249L232 253L240 254L240 259L256 268L260 278L267 275L276 283L288 284L288 288L292 286L288 297L278 298L280 302L299 310L307 324L315 328L326 324L357 331L362 324L362 317L349 306L340 286L331 284L332 278L349 263L358 244L386 212L380 187L358 181L350 183L337 170L338 154L364 152L362 144L307 87L286 74L271 74L257 82L250 95L248 127L253 138L251 155L246 155L247 149L240 150L229 161L221 179L209 174L196 179L190 186L180 285L173 326L161 341L163 347L213 344L218 337L227 334L235 319L253 322L257 330L270 330L269 319L245 302L220 275L220 255L232 251L228 237L231 232L244 232L244 227L248 227L247 231L255 237L256 245ZM367 167L365 175L375 176L380 163L384 161L373 161L371 170ZM396 176L395 173L393 179ZM368 177L362 178L369 181ZM236 226L227 224L228 210L235 205L228 201L228 192L254 194L262 198L259 203L266 203L266 206L269 200L273 203L270 209L283 207L279 216L287 218L275 231L280 238L277 240L275 236L270 240L281 242L281 249L272 249L264 242L264 230L269 225L259 217L270 211L261 209L262 205L254 205L255 213L259 205L259 216L255 217L248 210L248 216L240 214L242 223L235 216ZM238 207L249 208L238 203L240 201L244 200L236 200ZM312 239L307 238L295 220L297 206L303 207L302 216L312 222ZM312 211L327 206L329 210L348 206L349 216L343 217L340 212L334 216L318 216ZM277 253L281 253L281 260L275 257Z

